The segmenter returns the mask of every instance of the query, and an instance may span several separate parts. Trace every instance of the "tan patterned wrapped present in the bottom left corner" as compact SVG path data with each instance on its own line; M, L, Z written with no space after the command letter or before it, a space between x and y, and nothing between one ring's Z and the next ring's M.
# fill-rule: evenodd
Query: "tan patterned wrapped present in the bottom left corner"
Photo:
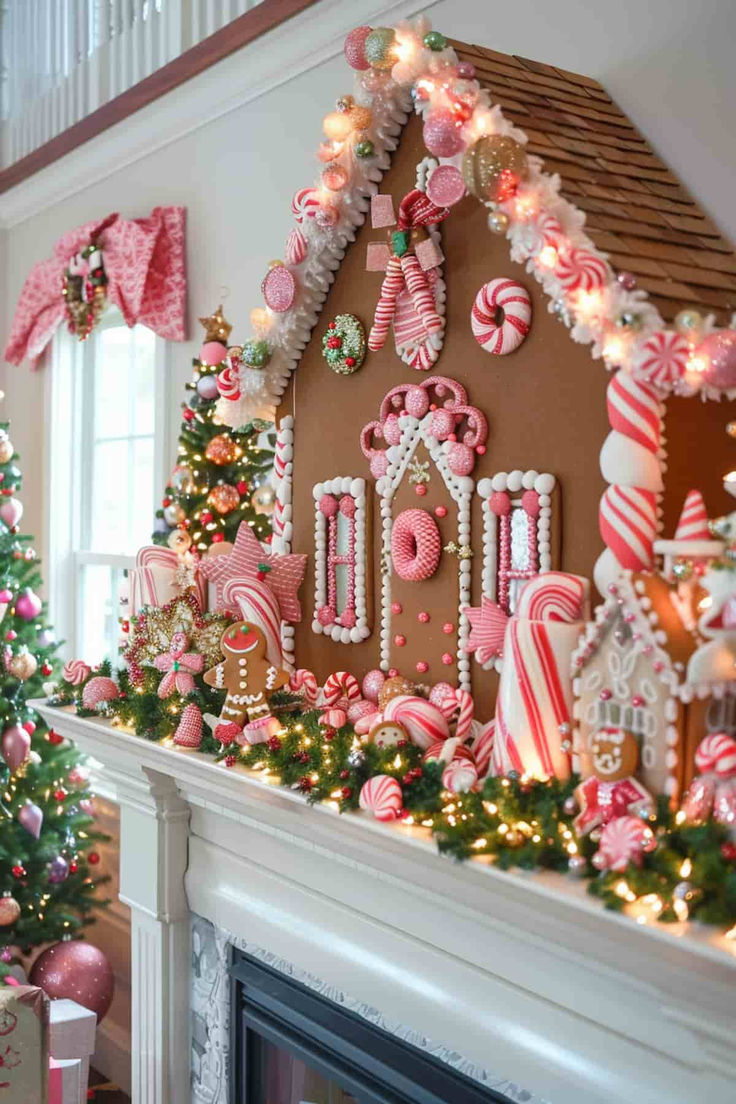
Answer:
M0 988L0 1100L49 1100L49 998L35 985Z

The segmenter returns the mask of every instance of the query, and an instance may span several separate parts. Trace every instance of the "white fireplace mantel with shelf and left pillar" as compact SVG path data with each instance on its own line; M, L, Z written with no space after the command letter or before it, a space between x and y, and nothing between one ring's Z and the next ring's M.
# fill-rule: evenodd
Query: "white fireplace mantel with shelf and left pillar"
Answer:
M195 912L552 1104L736 1098L736 955L556 874L439 856L241 767L44 702L121 806L134 1104L184 1104Z

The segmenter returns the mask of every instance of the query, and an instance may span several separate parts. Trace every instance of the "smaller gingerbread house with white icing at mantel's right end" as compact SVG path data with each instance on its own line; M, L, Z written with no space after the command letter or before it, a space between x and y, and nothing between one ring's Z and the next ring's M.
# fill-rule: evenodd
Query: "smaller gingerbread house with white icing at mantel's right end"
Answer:
M702 503L691 491L675 539L659 550L663 570L625 572L611 584L573 657L583 776L591 773L594 733L625 729L639 740L639 779L673 799L692 778L703 737L736 732L736 572L714 559L723 543L708 541L706 528L694 531L694 496Z

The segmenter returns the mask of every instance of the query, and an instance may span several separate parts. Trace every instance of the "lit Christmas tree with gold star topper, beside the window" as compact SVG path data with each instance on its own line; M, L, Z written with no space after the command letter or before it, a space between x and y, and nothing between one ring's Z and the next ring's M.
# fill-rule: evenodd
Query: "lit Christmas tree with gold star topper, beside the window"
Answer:
M202 553L211 544L233 541L242 521L253 527L259 540L267 540L275 496L268 484L274 463L270 424L256 420L228 429L217 418L217 375L232 370L236 360L263 368L268 347L252 341L227 348L232 326L222 307L200 322L204 344L192 361L177 466L157 513L160 522L153 540L178 551L191 546Z

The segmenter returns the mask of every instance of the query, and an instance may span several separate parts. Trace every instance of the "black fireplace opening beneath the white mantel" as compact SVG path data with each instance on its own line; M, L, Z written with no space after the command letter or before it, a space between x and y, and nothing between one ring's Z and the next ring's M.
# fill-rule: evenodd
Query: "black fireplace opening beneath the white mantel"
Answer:
M231 1104L512 1104L239 951L230 1081Z

